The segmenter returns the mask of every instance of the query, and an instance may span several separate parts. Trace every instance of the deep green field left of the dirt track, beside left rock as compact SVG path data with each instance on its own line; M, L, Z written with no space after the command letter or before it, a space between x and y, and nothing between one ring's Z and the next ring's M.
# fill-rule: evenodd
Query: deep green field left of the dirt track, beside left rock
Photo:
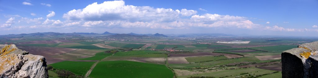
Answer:
M86 72L89 70L89 68L93 65L95 62L74 62L74 61L63 61L58 63L50 64L53 66L53 68L59 69L59 70L68 70L73 72L76 75L85 75Z

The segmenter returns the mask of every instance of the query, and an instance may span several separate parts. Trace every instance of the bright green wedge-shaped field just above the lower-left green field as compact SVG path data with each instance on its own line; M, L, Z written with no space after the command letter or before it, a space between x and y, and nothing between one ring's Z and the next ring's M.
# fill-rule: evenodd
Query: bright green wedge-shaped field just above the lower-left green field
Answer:
M83 58L83 59L79 59L79 60L101 60L101 59L108 57L110 55L113 55L113 54L100 52L100 53L96 53L95 56L93 56L93 57Z

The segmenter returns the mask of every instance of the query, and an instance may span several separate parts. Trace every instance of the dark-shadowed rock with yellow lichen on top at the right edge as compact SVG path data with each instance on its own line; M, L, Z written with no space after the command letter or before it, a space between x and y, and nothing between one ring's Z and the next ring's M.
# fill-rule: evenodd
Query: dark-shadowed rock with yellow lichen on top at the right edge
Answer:
M283 78L318 78L318 41L281 54Z

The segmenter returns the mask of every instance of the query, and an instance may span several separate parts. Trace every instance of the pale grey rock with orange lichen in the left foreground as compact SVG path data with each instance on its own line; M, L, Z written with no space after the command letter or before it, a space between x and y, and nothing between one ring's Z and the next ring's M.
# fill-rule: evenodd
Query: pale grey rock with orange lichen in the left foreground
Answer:
M45 58L0 44L0 78L48 78Z

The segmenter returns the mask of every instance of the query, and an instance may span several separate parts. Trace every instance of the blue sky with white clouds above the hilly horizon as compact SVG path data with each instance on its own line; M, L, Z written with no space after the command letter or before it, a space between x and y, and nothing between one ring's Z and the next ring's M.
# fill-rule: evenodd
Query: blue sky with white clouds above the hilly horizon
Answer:
M317 0L0 0L0 35L36 32L318 36Z

